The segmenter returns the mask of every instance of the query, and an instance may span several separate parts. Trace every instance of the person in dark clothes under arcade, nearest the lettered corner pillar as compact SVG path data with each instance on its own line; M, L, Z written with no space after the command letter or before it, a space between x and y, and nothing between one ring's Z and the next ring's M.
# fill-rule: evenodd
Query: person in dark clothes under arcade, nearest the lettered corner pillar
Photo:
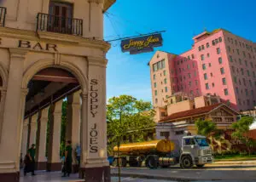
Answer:
M72 146L71 141L67 141L67 146L65 149L65 162L63 168L64 174L62 177L69 177L69 174L72 172Z

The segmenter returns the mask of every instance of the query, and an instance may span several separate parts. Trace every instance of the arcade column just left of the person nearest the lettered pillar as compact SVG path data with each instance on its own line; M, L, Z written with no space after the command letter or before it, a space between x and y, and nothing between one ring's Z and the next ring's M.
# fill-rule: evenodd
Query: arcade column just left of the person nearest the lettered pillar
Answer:
M61 114L62 100L55 103L53 111L53 121L51 124L52 131L49 138L49 154L47 162L48 171L61 171Z

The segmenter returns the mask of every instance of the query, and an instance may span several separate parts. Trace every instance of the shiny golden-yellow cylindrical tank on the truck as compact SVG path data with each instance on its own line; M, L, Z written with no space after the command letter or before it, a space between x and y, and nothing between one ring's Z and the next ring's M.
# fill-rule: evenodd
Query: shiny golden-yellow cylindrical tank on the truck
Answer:
M118 147L113 147L114 152L118 152ZM123 144L119 146L120 154L130 153L150 153L150 152L169 153L174 151L174 143L170 139L160 139L146 142Z

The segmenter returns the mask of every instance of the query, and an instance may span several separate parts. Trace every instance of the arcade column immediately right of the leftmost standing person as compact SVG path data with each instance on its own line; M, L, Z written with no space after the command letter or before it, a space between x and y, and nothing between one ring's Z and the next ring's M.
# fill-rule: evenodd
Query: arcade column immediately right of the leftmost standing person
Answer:
M47 160L45 157L46 150L46 131L48 122L49 107L41 111L41 117L38 120L38 144L37 144L37 169L46 170Z

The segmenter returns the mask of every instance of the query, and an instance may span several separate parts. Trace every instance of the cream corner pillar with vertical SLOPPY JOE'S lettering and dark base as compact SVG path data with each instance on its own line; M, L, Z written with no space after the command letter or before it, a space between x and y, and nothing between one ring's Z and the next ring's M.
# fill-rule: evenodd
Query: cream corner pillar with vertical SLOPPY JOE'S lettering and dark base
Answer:
M108 61L96 57L88 57L88 61L88 100L86 94L82 94L81 170L84 170L87 182L102 180L108 182L111 180L107 158L106 65Z

